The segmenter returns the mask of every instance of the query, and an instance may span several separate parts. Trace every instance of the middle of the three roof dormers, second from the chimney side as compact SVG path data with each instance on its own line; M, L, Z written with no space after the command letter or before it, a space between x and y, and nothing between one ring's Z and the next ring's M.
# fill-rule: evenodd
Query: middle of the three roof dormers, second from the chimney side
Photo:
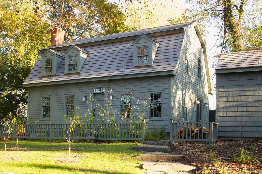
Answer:
M65 74L80 72L89 52L72 45L65 52Z

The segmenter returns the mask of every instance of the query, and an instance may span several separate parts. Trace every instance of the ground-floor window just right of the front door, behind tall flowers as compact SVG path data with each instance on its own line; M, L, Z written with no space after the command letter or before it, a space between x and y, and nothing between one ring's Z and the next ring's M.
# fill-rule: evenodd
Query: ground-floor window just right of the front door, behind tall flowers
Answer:
M121 95L122 118L132 117L132 95Z

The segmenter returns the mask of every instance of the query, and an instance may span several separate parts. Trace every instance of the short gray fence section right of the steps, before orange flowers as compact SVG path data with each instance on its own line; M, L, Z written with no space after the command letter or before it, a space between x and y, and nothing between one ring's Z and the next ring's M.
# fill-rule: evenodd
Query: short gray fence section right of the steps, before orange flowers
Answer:
M214 122L173 122L170 119L170 142L204 141L215 142L218 139L218 123Z

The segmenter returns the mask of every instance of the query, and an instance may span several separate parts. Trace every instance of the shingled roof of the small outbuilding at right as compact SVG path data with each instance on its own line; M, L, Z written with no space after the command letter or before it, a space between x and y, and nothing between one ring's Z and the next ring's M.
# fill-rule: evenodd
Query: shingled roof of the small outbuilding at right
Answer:
M262 50L223 53L216 64L216 72L262 70Z

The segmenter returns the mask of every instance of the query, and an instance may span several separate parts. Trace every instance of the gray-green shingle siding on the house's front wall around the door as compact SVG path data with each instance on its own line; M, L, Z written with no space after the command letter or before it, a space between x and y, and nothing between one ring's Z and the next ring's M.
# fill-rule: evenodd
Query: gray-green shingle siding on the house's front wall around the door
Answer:
M67 85L53 85L53 86L43 86L43 87L29 87L29 97L28 97L28 113L31 118L39 120L41 124L47 124L51 121L53 124L63 124L65 115L65 96L75 96L75 107L79 107L79 113L84 115L89 108L87 102L82 101L83 96L90 96L92 93L92 88L106 88L106 93L108 90L113 90L113 104L112 110L121 111L120 99L122 94L130 94L132 91L132 107L141 106L135 104L137 100L141 101L146 99L150 93L160 92L162 93L162 117L156 121L150 119L150 110L146 113L146 117L150 120L148 122L148 127L152 125L168 128L169 123L169 81L170 78L167 76L158 78L140 78L140 79L126 79L126 80L112 80L104 81L103 83L79 83L79 84L67 84ZM106 84L106 85L105 85ZM106 87L105 87L106 86ZM108 96L108 94L106 94ZM42 119L42 97L50 97L51 105L51 117L50 119ZM150 101L148 100L148 103ZM132 114L135 114L138 110L134 110ZM113 115L111 115L113 116ZM118 119L119 116L118 116Z

